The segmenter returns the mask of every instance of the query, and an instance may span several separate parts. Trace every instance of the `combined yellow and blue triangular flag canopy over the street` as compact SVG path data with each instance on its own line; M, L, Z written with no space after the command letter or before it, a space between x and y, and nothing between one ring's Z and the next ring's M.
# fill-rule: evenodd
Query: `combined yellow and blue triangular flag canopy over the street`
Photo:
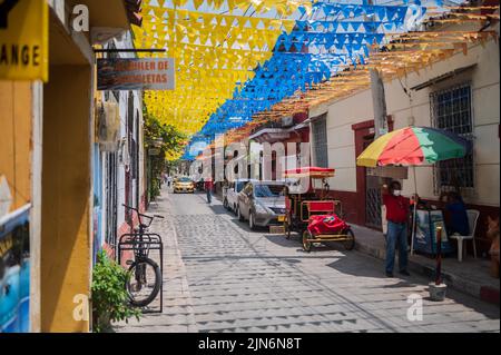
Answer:
M346 67L366 65L374 47L423 20L432 3L443 11L440 0L423 3L149 0L135 45L166 48L177 85L146 92L145 103L181 131L198 132L193 144L209 140Z

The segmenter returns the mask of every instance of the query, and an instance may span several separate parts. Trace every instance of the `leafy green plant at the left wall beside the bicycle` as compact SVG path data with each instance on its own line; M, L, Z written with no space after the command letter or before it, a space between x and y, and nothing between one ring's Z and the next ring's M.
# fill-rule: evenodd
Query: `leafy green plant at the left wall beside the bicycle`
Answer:
M105 252L99 252L92 270L92 331L112 332L114 322L135 317L139 321L141 312L129 304L125 288L129 273L111 260Z

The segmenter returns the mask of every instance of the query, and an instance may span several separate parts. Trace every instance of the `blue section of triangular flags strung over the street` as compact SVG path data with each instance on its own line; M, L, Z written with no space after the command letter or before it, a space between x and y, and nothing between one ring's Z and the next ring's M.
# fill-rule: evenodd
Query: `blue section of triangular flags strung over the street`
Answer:
M333 6L318 2L315 9L324 9L324 7ZM352 4L346 7L353 9ZM341 70L340 68L350 63L364 65L364 57L369 56L369 47L373 43L381 45L385 36L377 30L396 29L402 26L404 19L401 13L406 13L407 7L402 7L404 11L399 11L397 8L369 7L363 11L369 14L379 12L382 20L380 22L340 21L338 19L336 21L296 21L292 33L279 36L274 57L264 67L256 68L254 79L242 92L236 91L234 98L212 116L200 135L215 136L238 128L252 121L255 114L269 109L296 90L306 91L307 88L328 80L337 70ZM352 16L346 13L345 17ZM365 26L366 23L371 26ZM340 27L346 30L352 29L354 32L337 33ZM312 32L312 30L318 32ZM314 53L311 52L312 50Z

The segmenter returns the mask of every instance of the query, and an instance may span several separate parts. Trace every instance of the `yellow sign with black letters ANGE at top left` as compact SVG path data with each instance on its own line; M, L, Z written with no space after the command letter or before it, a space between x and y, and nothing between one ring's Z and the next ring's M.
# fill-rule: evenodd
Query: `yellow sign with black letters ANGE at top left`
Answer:
M0 80L48 80L46 0L0 1Z

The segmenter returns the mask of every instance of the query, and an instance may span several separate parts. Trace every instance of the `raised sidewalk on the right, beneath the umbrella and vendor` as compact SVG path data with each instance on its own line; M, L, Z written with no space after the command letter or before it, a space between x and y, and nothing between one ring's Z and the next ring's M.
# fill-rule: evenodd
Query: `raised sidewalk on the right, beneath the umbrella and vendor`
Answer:
M353 231L356 236L358 252L380 259L385 258L385 241L381 231L361 226L353 226ZM490 276L490 260L474 259L470 256L460 263L454 256L442 259L444 283L450 288L499 305L500 282ZM428 276L432 280L435 273L435 260L414 254L409 258L409 269Z

